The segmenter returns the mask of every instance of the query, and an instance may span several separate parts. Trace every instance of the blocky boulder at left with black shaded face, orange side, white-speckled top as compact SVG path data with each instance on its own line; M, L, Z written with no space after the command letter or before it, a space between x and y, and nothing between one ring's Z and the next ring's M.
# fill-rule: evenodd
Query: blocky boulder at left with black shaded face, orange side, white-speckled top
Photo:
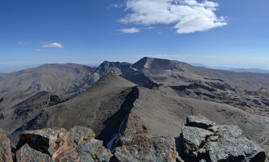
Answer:
M69 134L64 128L54 127L36 131L23 131L17 149L27 143L31 148L52 156L68 140Z

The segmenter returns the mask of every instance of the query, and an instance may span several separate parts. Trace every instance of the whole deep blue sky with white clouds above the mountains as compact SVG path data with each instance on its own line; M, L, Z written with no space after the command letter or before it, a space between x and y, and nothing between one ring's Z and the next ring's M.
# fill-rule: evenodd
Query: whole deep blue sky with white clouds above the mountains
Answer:
M268 0L2 0L0 64L134 63L149 56L269 69L268 6Z

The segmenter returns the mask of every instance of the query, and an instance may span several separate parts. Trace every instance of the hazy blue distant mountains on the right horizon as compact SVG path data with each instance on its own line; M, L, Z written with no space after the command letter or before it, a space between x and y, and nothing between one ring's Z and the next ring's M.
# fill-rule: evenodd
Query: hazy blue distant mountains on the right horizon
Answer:
M269 70L267 69L259 69L259 68L249 68L249 69L244 69L244 68L236 68L236 67L210 67L203 65L201 63L188 63L192 66L196 67L205 67L209 69L219 69L219 70L228 70L228 71L234 71L234 72L250 72L250 73L269 73Z

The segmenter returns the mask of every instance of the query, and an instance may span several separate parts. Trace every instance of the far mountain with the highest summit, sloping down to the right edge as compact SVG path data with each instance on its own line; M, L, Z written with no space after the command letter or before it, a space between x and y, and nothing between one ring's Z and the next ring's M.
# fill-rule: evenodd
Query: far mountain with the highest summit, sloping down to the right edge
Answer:
M224 103L269 116L268 97L255 93L269 85L269 74L214 70L144 57L120 76L164 94Z

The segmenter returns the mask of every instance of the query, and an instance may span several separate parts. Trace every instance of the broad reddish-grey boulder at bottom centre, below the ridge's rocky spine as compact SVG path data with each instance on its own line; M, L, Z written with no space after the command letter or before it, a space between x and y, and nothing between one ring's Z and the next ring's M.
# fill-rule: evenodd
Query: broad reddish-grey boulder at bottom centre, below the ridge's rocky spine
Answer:
M175 162L175 140L158 135L138 134L121 137L112 159L120 162Z

